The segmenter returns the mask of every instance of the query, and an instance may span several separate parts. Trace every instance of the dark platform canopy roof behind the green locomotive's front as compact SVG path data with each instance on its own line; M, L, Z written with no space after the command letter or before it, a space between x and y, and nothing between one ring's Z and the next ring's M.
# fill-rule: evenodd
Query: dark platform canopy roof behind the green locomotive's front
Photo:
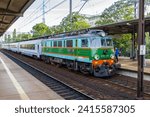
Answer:
M129 20L124 22L92 27L91 29L104 30L109 35L133 33L133 31L137 33L138 21L138 19ZM145 18L145 32L150 32L150 17Z

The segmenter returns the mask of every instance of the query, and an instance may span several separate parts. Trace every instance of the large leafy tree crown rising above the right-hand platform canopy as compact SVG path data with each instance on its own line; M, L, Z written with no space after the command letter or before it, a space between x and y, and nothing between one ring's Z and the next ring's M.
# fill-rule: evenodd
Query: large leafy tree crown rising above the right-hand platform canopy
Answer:
M96 25L110 24L133 18L134 7L131 5L131 0L120 0L103 11Z

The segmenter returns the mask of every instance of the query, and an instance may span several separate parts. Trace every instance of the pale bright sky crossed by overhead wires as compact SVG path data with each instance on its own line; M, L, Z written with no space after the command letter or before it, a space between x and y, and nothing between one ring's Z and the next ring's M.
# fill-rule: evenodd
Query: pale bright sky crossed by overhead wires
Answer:
M64 2L63 2L64 1ZM44 0L45 2L45 23L48 26L59 25L61 20L69 14L70 0ZM105 8L111 6L118 0L88 0L80 11L81 14L97 15ZM59 3L61 5L55 7ZM85 0L72 0L72 12L79 11ZM42 3L43 0L35 0L35 2L26 10L23 17L19 18L6 33L12 32L30 32L32 27L42 22Z

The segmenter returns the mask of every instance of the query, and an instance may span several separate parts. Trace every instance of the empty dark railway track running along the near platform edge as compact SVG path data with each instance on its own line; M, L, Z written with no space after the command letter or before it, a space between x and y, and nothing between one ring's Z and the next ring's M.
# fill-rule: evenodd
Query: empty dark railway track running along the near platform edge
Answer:
M60 96L62 96L64 99L67 100L93 100L94 98L80 92L79 90L69 86L68 84L55 79L54 77L50 76L47 73L44 73L43 71L35 68L34 66L29 65L28 63L15 58L14 56L11 56L9 54L5 55L12 59L14 62L16 62L18 65L20 65L22 68L27 70L29 73L31 73L33 76L35 76L38 80L43 82L45 85L47 85L49 88L51 88L53 91L58 93Z

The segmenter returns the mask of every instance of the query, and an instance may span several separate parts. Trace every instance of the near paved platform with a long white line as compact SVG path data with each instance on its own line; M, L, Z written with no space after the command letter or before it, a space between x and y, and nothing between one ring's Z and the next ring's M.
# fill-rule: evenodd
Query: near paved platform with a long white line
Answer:
M0 100L63 100L0 52Z

